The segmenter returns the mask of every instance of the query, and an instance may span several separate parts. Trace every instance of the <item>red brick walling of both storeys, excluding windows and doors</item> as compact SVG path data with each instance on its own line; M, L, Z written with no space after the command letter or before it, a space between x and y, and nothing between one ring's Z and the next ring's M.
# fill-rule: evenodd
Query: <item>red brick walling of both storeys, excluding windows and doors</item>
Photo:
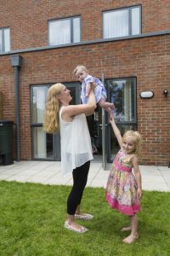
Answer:
M66 8L65 8L65 4ZM81 4L82 3L82 4ZM101 11L142 3L142 31L170 27L169 1L14 1L0 3L0 24L11 27L12 49L47 46L48 19L82 15L82 40L102 37ZM50 6L49 6L50 5ZM156 13L157 9L157 13ZM6 15L8 12L8 15ZM88 14L89 13L89 14ZM138 130L143 136L141 164L167 166L170 161L170 35L20 53L21 159L31 160L30 84L75 81L77 64L105 78L137 78ZM163 96L163 90L169 94ZM3 118L14 120L14 68L10 55L0 55ZM153 90L141 99L139 92Z

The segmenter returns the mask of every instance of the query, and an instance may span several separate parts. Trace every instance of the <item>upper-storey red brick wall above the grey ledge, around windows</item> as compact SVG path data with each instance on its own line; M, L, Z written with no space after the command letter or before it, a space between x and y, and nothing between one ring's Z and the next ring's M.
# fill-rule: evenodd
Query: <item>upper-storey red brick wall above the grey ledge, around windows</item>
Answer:
M82 41L102 38L102 11L142 5L142 32L170 28L169 0L15 0L0 2L0 26L11 28L11 49L48 45L48 20L82 15Z

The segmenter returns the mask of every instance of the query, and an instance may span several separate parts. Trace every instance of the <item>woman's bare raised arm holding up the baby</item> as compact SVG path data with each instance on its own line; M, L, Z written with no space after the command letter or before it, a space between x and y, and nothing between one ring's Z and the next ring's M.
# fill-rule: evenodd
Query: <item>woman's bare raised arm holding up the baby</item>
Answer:
M67 121L71 121L72 117L77 114L85 113L86 115L88 115L89 113L94 113L95 108L96 102L94 97L94 90L90 90L88 104L65 106L62 111L62 118Z

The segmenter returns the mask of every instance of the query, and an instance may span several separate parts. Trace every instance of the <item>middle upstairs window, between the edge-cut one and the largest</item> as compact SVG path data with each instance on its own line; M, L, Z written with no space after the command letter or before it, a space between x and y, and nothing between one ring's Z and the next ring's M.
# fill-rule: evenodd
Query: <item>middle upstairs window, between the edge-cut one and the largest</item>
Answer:
M81 18L71 17L50 20L48 23L48 44L71 44L81 41Z

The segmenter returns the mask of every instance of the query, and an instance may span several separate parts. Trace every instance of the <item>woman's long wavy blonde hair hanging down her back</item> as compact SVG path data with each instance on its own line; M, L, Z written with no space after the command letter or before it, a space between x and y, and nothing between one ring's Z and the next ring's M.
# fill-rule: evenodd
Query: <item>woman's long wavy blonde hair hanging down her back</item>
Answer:
M54 84L48 89L47 103L44 112L43 131L54 133L59 131L59 96L63 84Z

